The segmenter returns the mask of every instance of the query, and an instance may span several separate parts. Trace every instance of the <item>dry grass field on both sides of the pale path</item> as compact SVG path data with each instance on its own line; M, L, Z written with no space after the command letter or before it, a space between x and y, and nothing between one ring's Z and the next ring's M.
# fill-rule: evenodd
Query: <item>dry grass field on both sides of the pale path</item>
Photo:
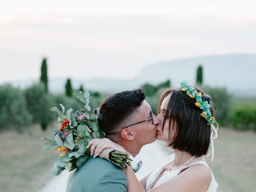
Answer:
M51 137L52 130L42 132L38 126L31 133L0 134L1 192L35 192L50 180L50 170L57 155L43 151L41 137ZM255 191L256 133L220 128L214 143L214 162L208 164L219 184L218 192Z

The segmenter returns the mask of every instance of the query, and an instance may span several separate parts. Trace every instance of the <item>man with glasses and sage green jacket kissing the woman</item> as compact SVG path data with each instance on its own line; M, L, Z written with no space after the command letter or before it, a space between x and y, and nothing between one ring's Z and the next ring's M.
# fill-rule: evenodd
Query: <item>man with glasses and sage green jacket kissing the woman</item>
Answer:
M137 89L106 98L100 106L98 124L106 138L120 144L135 157L142 146L156 140L160 121L152 113L143 91ZM72 172L67 183L67 192L126 191L124 172L108 160L96 158L96 154Z

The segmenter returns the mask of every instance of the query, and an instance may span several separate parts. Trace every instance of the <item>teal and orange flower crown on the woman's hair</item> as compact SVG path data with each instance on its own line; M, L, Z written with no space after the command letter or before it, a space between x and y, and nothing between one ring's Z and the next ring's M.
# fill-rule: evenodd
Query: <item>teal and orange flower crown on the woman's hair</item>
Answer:
M210 111L211 106L210 104L208 104L208 101L202 100L201 92L198 92L194 87L188 85L186 81L180 83L180 90L186 92L186 94L191 98L196 99L195 105L202 109L201 116L205 118L207 125L212 125L216 122L215 118L212 116L212 113Z

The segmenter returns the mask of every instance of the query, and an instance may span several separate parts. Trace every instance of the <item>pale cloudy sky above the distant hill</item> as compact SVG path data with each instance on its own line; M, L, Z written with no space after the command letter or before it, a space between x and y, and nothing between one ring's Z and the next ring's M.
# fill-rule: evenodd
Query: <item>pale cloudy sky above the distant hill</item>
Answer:
M176 58L256 53L254 0L8 0L0 83L48 75L130 79Z

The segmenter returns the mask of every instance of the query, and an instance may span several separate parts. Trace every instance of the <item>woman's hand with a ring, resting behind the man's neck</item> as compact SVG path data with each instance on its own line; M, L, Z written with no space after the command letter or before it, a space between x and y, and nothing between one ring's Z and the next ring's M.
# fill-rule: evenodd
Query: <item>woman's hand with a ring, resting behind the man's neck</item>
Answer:
M120 146L115 142L112 142L108 138L93 139L88 143L87 148L91 148L91 155L94 155L94 158L96 156L99 156L101 152L107 148L112 148L113 150L118 150L118 151L127 153L125 148L123 148L122 146Z

